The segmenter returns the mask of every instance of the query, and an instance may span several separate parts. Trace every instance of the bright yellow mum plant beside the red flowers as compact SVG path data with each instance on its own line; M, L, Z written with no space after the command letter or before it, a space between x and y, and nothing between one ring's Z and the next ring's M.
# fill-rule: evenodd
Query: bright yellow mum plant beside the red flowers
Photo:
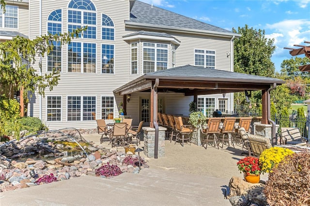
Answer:
M285 156L294 154L294 152L288 148L283 147L271 147L262 152L260 156L260 164L262 167L262 173L272 173L273 168L277 167Z

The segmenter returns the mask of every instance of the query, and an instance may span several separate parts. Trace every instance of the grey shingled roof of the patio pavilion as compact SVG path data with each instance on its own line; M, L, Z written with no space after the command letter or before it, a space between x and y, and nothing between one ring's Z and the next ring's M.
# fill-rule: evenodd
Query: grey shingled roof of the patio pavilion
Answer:
M181 67L174 67L167 70L161 70L157 72L147 73L143 75L144 78L155 78L159 76L160 78L168 77L170 79L214 79L218 81L238 81L238 82L272 82L272 83L285 83L281 79L265 77L265 76L256 76L251 74L242 74L236 72L229 72L218 69L208 69L199 66L185 65Z

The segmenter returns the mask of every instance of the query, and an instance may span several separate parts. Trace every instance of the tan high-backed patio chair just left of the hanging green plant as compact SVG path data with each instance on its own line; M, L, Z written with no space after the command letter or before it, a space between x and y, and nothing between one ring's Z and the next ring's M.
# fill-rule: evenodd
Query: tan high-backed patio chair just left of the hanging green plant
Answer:
M176 128L176 136L174 145L178 140L182 140L182 147L184 147L184 140L188 140L190 145L190 133L192 133L192 126L184 125L182 121L182 117L174 117L175 128ZM186 137L187 136L187 137Z

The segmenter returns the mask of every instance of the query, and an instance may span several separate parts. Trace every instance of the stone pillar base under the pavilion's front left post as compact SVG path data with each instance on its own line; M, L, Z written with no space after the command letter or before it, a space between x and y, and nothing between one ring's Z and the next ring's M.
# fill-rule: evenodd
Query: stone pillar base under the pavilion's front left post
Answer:
M151 127L142 127L143 132L143 141L144 141L144 154L149 158L154 158L154 149L155 149L155 128ZM159 127L158 134L158 157L165 157L165 136L166 136L165 127Z

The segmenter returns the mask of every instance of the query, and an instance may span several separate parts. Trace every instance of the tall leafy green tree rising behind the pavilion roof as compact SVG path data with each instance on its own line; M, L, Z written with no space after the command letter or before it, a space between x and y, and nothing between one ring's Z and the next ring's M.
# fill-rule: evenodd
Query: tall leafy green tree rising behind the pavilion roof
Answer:
M248 25L238 31L242 34L234 40L234 71L245 74L273 77L275 65L271 55L276 49L274 39L265 38L265 31L248 28Z

